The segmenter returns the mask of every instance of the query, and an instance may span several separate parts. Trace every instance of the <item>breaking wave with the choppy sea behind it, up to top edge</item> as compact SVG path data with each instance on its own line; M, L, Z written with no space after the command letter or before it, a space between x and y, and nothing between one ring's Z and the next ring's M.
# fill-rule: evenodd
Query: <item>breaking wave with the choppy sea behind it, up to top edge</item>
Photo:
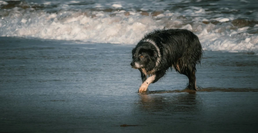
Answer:
M135 44L154 29L180 28L197 34L204 50L258 53L255 5L239 10L201 0L145 2L0 1L0 36Z

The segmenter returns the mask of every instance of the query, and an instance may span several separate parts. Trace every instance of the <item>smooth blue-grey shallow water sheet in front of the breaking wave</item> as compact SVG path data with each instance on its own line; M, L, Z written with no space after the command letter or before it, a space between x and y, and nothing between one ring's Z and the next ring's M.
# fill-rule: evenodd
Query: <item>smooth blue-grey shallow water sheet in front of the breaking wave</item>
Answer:
M137 94L134 45L0 37L1 132L255 132L258 56L204 51ZM137 125L120 127L120 125Z

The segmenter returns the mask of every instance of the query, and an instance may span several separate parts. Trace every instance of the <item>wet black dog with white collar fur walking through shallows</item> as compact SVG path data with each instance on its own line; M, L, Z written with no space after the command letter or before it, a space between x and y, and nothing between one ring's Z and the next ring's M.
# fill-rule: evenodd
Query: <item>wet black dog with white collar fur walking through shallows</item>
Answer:
M141 72L138 92L146 92L149 84L157 82L171 67L188 77L187 88L197 90L196 64L201 63L202 53L198 37L189 30L154 30L146 34L132 50L131 66Z

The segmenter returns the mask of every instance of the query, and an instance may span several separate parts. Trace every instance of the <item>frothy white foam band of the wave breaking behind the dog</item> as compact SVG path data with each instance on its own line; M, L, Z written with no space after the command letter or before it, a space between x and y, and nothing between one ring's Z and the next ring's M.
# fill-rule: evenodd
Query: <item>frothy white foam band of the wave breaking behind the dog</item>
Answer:
M210 12L201 7L151 11L146 5L144 10L121 10L117 9L123 8L121 4L111 3L111 8L102 9L97 7L103 7L103 4L96 3L97 7L93 9L61 8L49 12L49 9L39 10L28 3L22 4L1 10L1 36L126 45L136 44L154 29L180 28L197 34L204 50L258 53L258 21L237 19L234 15L211 17Z

